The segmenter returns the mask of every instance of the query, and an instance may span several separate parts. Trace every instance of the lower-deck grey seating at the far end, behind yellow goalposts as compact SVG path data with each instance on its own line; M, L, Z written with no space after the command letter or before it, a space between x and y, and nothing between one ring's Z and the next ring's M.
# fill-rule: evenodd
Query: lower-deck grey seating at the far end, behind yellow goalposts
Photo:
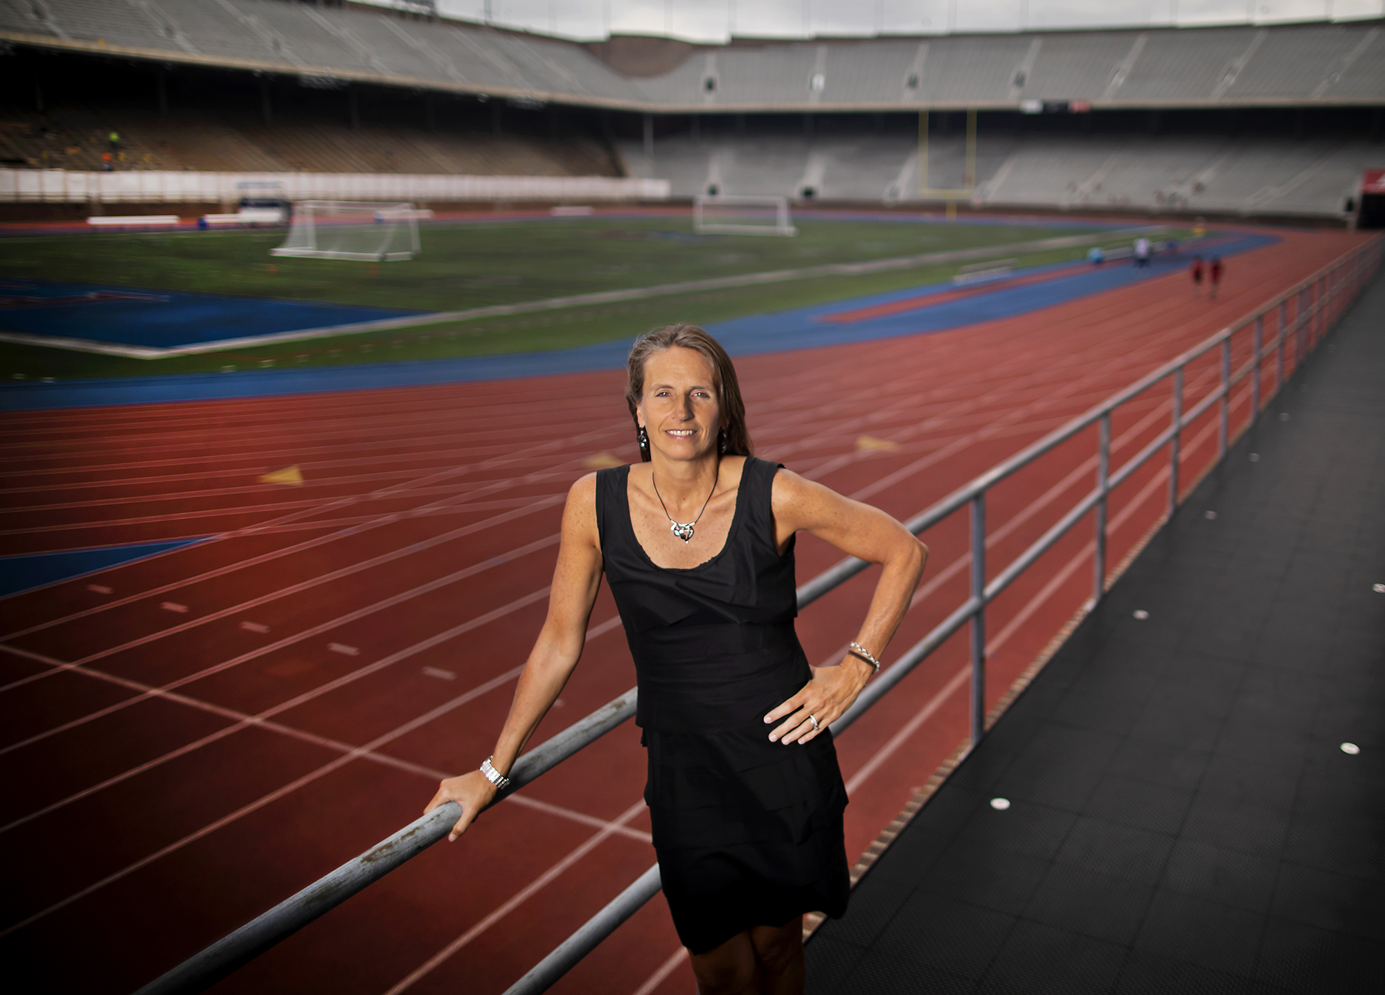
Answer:
M674 197L711 193L816 200L917 201L911 136L661 139L654 155L622 143L634 176L669 179ZM929 143L931 187L957 187L961 136ZM1181 213L1331 215L1379 158L1367 141L1219 137L1043 137L982 133L981 205L1140 208ZM805 177L812 177L807 183ZM931 198L931 200L938 200Z

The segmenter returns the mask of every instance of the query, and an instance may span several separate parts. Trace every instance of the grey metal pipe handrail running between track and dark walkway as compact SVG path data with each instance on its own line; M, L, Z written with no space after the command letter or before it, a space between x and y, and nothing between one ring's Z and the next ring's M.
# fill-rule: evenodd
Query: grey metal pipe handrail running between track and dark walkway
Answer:
M979 741L979 739L985 734L986 604L1025 570L1028 570L1040 556L1043 556L1044 552L1066 535L1066 532L1093 509L1097 510L1100 553L1093 588L1093 603L1100 601L1105 592L1107 582L1105 529L1107 499L1109 492L1127 479L1136 470L1144 466L1144 463L1150 460L1161 448L1169 445L1173 452L1170 511L1176 509L1177 453L1181 430L1191 425L1197 417L1205 413L1216 400L1223 402L1224 424L1231 387L1244 378L1249 369L1259 370L1260 363L1270 355L1274 355L1277 362L1274 388L1274 392L1277 394L1284 382L1285 342L1289 341L1291 337L1301 338L1305 324L1307 324L1310 337L1307 348L1316 345L1316 342L1321 338L1321 334L1325 331L1323 327L1324 322L1319 320L1319 316L1325 315L1342 292L1350 292L1353 295L1359 292L1364 283L1367 267L1379 263L1379 247L1381 240L1375 238L1342 256L1335 263L1321 267L1312 276L1273 298L1270 303L1263 305L1255 313L1242 317L1231 326L1227 326L1199 345L1192 346L1176 359L1141 377L1134 384L1116 392L1096 407L1054 430L1037 442L1033 442L1019 453L999 463L933 506L906 521L904 527L914 535L918 535L963 507L971 507L971 596L918 643L906 650L893 664L884 668L866 686L860 696L857 696L852 707L831 723L830 728L832 729L832 733L841 734L845 732L866 712L867 708L879 701L879 698L895 687L895 685L907 676L914 667L931 655L964 625L971 624L971 739L972 744ZM1343 267L1352 265L1355 265L1356 269L1350 274L1349 280L1337 280L1331 287L1323 288L1321 292L1316 292L1319 291L1319 281L1325 281L1328 277L1337 276ZM1303 303L1305 291L1312 292L1313 298L1307 305ZM1295 295L1299 295L1299 299L1295 310L1294 326L1291 328L1287 323L1287 308L1289 298ZM1263 316L1276 308L1280 312L1278 333L1267 348L1262 348L1260 330L1263 326ZM1256 328L1253 358L1245 367L1235 371L1235 378L1233 380L1230 370L1230 340L1237 331L1251 323L1253 323ZM1316 333L1314 328L1317 328ZM1298 342L1298 338L1295 338L1294 342L1295 369L1306 355L1306 349ZM1223 346L1223 344L1226 345ZM1184 414L1181 412L1183 371L1190 362L1217 346L1223 346L1222 382L1208 395L1208 398ZM1173 423L1116 473L1108 474L1112 412L1170 376L1176 382L1173 398ZM1256 406L1251 414L1251 424L1253 424L1255 417L1259 414L1259 381L1260 377L1256 377L1253 381L1256 387L1253 391ZM986 492L1000 481L1029 466L1044 453L1078 435L1094 423L1100 423L1101 425L1097 488L1084 495L1079 503L1073 506L1073 509L1069 510L1055 525L1046 531L1043 536L1021 553L1021 556L1007 565L1006 570L1003 570L993 581L986 583ZM1220 456L1226 452L1227 437L1224 432L1220 434L1219 442L1220 459ZM868 565L870 564L867 561L856 557L843 558L798 588L798 607L803 608L812 604L823 595L866 570ZM510 772L511 786L504 791L497 793L492 804L499 802L512 791L524 787L547 771L551 771L568 757L573 755L583 747L622 725L626 719L632 718L636 710L636 698L637 692L632 687L620 697L609 701L586 718L546 740L542 746L521 755ZM330 874L321 877L298 894L280 902L273 909L255 917L241 928L223 937L216 944L212 944L206 949L183 962L173 970L144 985L138 989L137 995L172 995L175 992L199 992L209 988L237 967L248 963L271 948L274 944L292 935L307 923L346 901L346 898L368 887L371 883L389 873L404 861L417 856L434 843L438 843L447 834L447 830L457 820L457 818L460 818L460 805L456 802L447 802L428 815L416 819L397 833L393 833L388 838L367 849L364 854L360 854L355 859L343 863ZM620 923L629 919L630 915L658 894L659 887L658 865L655 865L641 874L640 879L637 879L629 888L620 892L616 899L598 912L582 928L579 928L578 933L569 937L562 945L553 951L553 953L536 965L533 970L524 976L524 978L515 983L515 985L508 989L507 995L528 995L530 992L546 991L572 965L578 963L583 956L594 949L601 940L615 931Z

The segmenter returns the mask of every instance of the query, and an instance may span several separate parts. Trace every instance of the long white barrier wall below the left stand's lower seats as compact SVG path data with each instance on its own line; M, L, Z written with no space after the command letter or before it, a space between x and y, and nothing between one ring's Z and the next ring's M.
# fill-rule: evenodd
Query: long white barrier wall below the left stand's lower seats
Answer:
M0 201L177 204L238 201L240 183L280 183L291 201L661 201L669 182L611 176L446 173L194 173L0 169Z

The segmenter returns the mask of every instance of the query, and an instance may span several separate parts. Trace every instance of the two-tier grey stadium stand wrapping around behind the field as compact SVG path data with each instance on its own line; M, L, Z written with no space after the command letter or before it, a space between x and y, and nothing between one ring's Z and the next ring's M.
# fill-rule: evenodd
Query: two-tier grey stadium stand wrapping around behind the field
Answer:
M1381 24L578 44L350 3L0 0L11 51L240 73L262 103L247 112L258 122L181 97L168 111L161 82L158 116L11 109L0 159L98 169L114 127L118 169L629 173L668 179L676 197L909 202L924 186L918 112L976 109L975 206L1341 219L1385 158ZM339 112L291 119L295 93L334 90ZM470 101L471 119L434 129L429 104L427 126L421 112L361 123L368 93ZM1046 112L1028 125L1021 111ZM1280 116L1237 116L1267 114ZM586 118L560 127L561 115ZM935 123L927 186L960 187L963 173L958 129Z

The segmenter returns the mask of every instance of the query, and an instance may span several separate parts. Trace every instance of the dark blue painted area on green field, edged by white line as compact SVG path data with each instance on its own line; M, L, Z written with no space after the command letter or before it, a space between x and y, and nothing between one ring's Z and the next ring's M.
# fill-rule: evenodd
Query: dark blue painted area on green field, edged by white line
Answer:
M424 313L317 301L0 279L0 328L6 331L159 349Z

